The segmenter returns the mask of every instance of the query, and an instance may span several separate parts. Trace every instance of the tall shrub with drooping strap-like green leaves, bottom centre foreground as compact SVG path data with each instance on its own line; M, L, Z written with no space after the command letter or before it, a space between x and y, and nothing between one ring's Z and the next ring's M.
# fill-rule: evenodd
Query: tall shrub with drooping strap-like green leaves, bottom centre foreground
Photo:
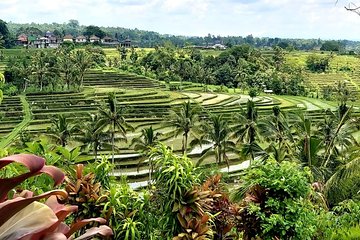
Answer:
M173 237L181 232L181 225L175 206L183 202L184 194L198 182L194 165L187 157L179 157L165 145L159 145L150 154L154 166L154 203L158 216L158 228L162 239Z

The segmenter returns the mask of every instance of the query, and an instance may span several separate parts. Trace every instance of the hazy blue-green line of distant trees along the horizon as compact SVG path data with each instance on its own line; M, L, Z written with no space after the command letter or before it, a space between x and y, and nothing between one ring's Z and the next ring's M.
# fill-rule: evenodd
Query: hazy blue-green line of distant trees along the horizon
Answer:
M71 34L73 36L83 35L88 26L80 25L77 20L69 20L67 23L7 23L10 33L15 38L16 36L25 33L30 35L43 35L46 31L54 32L58 36ZM138 47L155 47L162 46L165 42L171 42L177 47L184 46L212 46L214 44L224 44L228 47L240 44L249 44L253 47L267 48L273 46L280 46L283 49L298 49L298 50L312 50L320 49L322 45L327 42L321 39L284 39L284 38L269 38L269 37L253 37L248 36L215 36L210 33L204 37L187 37L175 36L170 34L159 34L153 31L144 31L135 29L128 29L122 27L100 27L100 29L107 36L113 39L122 41L130 39ZM338 44L339 50L356 50L360 46L358 41L339 40L333 41Z

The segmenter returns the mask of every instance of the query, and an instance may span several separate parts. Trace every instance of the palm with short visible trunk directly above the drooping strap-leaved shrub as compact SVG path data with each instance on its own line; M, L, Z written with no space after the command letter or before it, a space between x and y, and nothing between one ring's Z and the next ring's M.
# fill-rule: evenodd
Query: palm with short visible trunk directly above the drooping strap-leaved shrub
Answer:
M170 117L164 124L165 126L175 128L171 132L175 137L182 133L181 151L183 154L186 153L189 133L199 120L200 110L201 108L198 104L194 104L193 106L190 101L186 101L182 103L179 112L175 112L174 110L170 112Z

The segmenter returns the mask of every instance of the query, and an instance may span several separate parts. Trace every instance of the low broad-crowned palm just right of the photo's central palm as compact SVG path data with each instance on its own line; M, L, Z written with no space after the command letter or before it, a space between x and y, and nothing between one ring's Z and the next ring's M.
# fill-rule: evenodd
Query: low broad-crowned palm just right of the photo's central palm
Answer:
M215 154L216 163L220 164L225 161L229 166L227 151L236 151L235 143L230 141L229 122L222 115L210 115L209 121L200 127L200 138L194 139L190 145L213 144L201 153L201 157L197 162L199 166L203 160Z

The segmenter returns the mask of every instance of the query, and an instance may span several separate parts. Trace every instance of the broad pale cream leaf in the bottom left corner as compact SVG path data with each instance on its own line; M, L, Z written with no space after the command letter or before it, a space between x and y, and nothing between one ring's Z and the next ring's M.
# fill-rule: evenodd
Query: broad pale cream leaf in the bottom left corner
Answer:
M0 239L20 239L41 232L57 221L51 208L43 203L32 202L0 226Z

